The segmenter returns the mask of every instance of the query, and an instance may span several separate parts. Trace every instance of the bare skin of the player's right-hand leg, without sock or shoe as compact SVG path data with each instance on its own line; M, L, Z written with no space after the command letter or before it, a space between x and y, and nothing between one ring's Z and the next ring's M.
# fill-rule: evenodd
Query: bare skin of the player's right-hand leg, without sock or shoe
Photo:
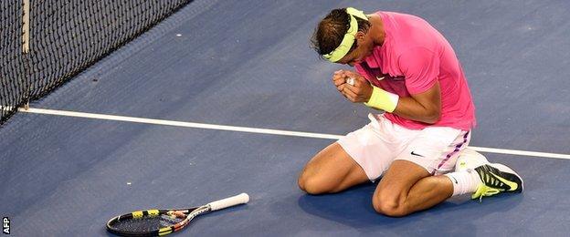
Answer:
M448 177L431 176L411 161L394 160L376 187L372 203L375 211L397 217L433 207L452 193Z

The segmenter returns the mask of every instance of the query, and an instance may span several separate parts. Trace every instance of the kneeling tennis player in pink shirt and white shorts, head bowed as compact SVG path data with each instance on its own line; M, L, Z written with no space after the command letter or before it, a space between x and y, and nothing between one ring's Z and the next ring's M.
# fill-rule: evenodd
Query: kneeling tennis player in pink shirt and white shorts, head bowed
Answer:
M301 190L338 192L382 176L372 204L388 216L453 195L523 191L512 169L466 149L476 123L470 89L453 48L424 19L334 9L311 42L323 59L355 67L332 76L345 98L385 112L369 114L368 125L313 157L301 171Z

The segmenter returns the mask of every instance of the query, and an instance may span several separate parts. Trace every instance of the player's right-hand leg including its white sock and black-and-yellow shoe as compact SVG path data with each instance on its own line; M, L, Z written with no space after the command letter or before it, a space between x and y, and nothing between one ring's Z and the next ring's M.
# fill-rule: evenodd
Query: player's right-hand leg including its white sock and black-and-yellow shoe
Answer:
M514 170L489 163L471 149L461 152L455 172L429 175L426 169L411 161L395 160L376 187L375 211L388 216L405 216L435 206L452 195L474 192L471 198L475 199L523 191L523 179Z

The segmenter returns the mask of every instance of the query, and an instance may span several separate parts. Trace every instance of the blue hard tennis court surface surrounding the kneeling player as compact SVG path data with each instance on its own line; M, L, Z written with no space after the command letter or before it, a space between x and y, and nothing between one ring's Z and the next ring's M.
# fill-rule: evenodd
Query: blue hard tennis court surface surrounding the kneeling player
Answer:
M477 108L470 146L522 194L375 213L375 184L297 186L319 150L368 123L310 48L332 8L419 15L446 36ZM0 214L14 236L111 235L114 215L250 201L186 236L565 236L570 232L570 2L195 0L0 127ZM348 68L348 67L346 67Z

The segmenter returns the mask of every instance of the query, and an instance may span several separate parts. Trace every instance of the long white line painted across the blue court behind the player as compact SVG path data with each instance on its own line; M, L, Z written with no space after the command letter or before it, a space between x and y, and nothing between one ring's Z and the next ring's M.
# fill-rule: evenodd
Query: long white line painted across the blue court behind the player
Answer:
M82 112L73 112L65 110L45 109L45 108L28 108L28 109L18 108L18 111L25 113L33 113L33 114L47 114L47 115L57 115L57 116L66 116L66 117L78 117L78 118L95 118L95 119L104 119L104 120L113 120L113 121L126 121L126 122L166 125L166 126L195 128L195 129L241 131L241 132L282 135L282 136L292 136L292 137L302 137L302 138L312 138L312 139L340 139L343 137L341 135L332 135L324 133L312 133L312 132L278 130L278 129L256 129L248 127L182 122L182 121L153 119L153 118L136 118L136 117L115 116L115 115L106 115L106 114L92 114L92 113L82 113ZM566 154L524 151L516 149L494 149L494 148L480 148L480 147L470 147L470 148L475 149L477 151L489 152L489 153L570 160L570 155Z

